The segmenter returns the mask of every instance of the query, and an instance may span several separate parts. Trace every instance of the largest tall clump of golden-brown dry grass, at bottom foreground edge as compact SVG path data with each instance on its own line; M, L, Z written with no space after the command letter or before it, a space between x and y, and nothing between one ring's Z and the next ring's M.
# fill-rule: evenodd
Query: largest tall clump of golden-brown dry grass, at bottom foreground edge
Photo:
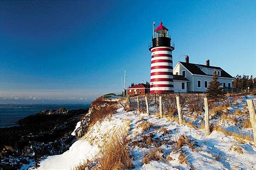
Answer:
M134 168L129 156L129 131L116 133L104 145L99 160L100 169ZM120 135L121 134L121 135Z

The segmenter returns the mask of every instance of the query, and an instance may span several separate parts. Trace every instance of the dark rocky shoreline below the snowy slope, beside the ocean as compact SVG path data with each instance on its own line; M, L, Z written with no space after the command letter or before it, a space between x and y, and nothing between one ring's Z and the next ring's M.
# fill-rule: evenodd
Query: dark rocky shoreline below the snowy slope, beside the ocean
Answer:
M76 141L71 133L78 121L86 121L88 110L45 110L19 120L19 126L0 128L0 168L37 167L43 158L65 152Z

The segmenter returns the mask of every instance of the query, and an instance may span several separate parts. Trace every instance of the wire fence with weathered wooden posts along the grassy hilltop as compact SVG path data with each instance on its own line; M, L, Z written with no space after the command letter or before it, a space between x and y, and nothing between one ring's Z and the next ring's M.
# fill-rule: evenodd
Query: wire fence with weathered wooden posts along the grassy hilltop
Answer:
M166 117L178 117L179 124L191 121L192 125L194 124L193 126L197 128L204 125L206 134L210 134L211 123L212 126L218 126L226 131L226 134L232 135L236 133L236 135L242 135L242 137L247 136L254 138L254 146L256 147L256 115L254 106L253 103L250 104L252 102L251 99L242 100L244 100L244 105L247 106L248 104L250 116L247 114L248 111L241 112L241 109L244 109L245 106L240 105L234 98L225 98L218 102L212 100L208 101L206 94L204 93L146 94L143 96L130 97L129 99L130 107L140 113L159 113L161 118L163 115ZM191 117L187 117L186 114L182 113L184 111L186 111L186 113L197 113L194 114L194 117L196 115L197 120L192 121ZM241 113L241 115L236 115L236 112L238 112L238 114ZM186 117L185 120L183 116ZM199 126L198 119L200 119ZM248 119L251 121L252 131L248 131L241 126L241 123ZM220 124L220 120L223 120L224 124ZM233 124L228 124L231 121Z

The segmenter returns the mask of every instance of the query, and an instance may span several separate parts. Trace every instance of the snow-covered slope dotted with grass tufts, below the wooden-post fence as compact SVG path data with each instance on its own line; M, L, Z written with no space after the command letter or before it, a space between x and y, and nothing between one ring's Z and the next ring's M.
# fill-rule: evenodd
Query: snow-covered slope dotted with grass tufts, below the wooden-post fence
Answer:
M147 128L143 129L142 124L148 125ZM98 159L103 145L113 133L122 132L120 128L130 132L129 152L136 169L256 168L256 149L251 144L241 144L233 137L216 131L207 136L204 131L175 121L136 111L125 112L119 108L112 117L92 126L69 151L43 160L39 169L73 169L79 164L86 164L87 160ZM177 148L181 135L189 142ZM162 151L159 153L162 159L143 164L143 157L154 148ZM185 161L179 160L180 154L185 155Z

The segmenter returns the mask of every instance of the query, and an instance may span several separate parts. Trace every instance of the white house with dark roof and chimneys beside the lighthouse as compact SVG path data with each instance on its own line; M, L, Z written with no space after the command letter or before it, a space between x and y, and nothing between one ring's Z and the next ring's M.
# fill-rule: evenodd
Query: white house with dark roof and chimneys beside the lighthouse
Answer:
M193 64L186 56L186 62L178 62L173 69L174 93L205 92L212 81L214 71L217 73L221 86L232 87L234 78L220 67L210 66L210 60L206 60L206 65ZM177 76L186 79L177 80Z

